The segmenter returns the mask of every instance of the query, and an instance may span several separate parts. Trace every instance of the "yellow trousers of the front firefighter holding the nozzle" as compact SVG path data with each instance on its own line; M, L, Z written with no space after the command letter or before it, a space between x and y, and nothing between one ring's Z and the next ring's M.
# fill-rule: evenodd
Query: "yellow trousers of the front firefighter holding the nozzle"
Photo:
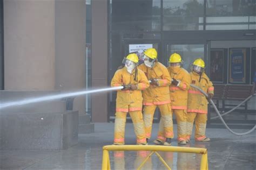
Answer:
M114 119L114 144L124 145L126 112L116 112ZM130 111L134 132L137 136L137 144L146 144L145 128L142 111Z

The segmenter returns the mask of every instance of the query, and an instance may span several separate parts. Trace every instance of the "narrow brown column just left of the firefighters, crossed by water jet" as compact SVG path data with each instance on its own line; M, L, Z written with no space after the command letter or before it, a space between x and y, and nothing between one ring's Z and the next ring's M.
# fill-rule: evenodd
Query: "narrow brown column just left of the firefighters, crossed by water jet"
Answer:
M107 84L107 0L92 1L92 87ZM92 95L92 122L107 122L107 93Z

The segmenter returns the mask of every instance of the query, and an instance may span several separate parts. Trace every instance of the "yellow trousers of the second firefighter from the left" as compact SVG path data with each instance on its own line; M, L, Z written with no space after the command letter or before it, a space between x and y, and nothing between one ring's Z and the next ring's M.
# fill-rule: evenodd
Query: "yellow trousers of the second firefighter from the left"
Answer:
M163 119L163 129L160 130L161 136L164 138L173 138L173 122L172 122L172 110L171 103L161 105L144 105L143 119L145 124L146 138L150 139L154 111L159 108L161 118Z

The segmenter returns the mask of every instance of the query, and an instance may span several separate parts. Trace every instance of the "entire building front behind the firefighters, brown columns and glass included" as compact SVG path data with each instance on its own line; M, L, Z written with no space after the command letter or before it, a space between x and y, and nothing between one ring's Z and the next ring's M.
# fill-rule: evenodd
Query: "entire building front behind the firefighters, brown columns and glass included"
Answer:
M254 0L5 0L0 6L3 90L108 87L123 57L146 47L156 48L166 66L173 52L187 70L204 59L214 83L256 79ZM78 97L75 109L92 122L109 122L115 100L114 91Z

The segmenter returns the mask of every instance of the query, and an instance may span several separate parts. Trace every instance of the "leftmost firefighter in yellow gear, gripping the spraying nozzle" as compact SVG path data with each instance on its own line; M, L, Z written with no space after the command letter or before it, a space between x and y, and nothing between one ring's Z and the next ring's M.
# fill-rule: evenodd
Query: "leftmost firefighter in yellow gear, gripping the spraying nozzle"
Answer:
M137 144L146 144L146 136L142 115L142 90L148 88L149 81L144 72L137 68L137 54L129 54L124 58L125 67L118 69L111 81L112 87L124 86L117 91L116 118L114 121L114 144L124 145L126 114L130 113Z

